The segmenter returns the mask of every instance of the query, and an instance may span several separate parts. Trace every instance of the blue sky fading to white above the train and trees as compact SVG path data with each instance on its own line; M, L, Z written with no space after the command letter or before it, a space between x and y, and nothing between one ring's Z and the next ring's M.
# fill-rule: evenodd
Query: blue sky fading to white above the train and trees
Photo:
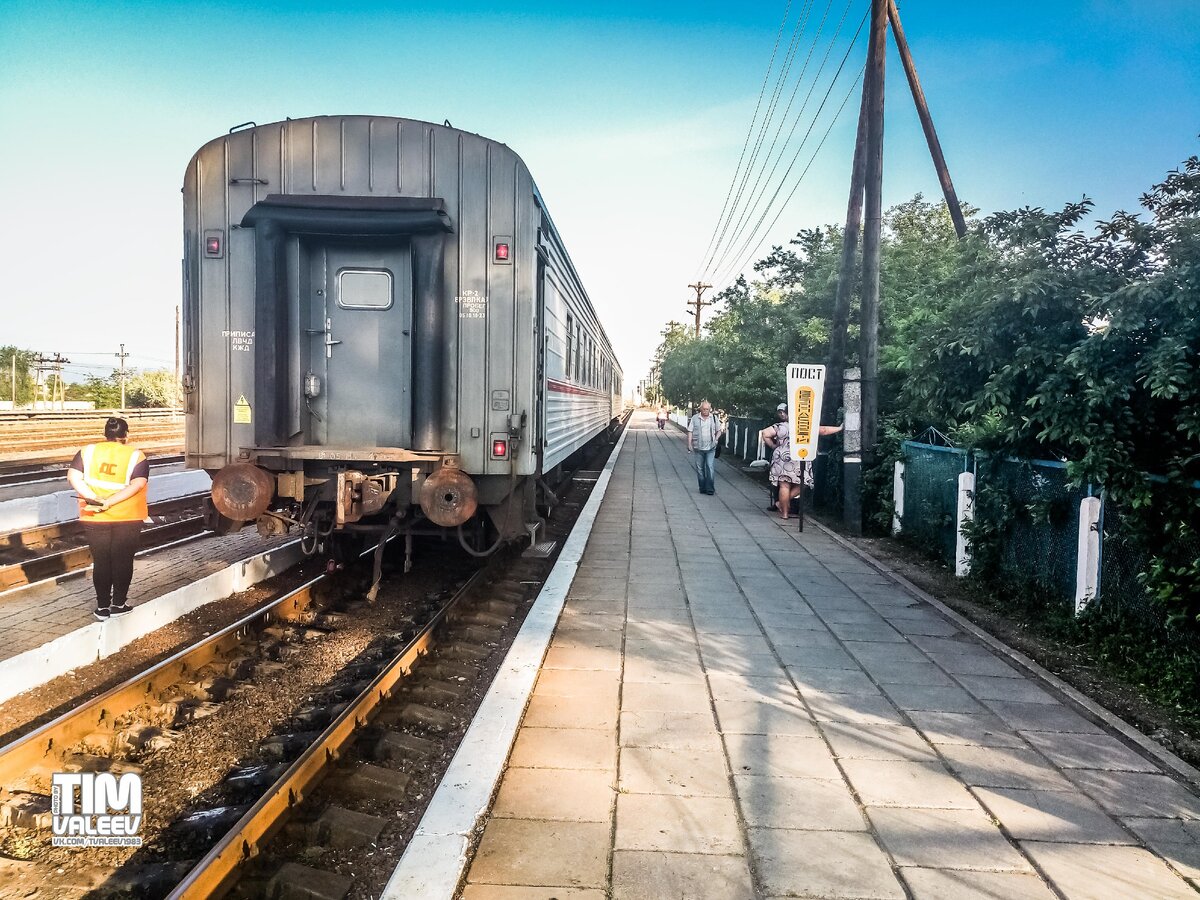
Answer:
M827 1L846 8L811 0L816 14ZM136 364L169 364L192 152L250 120L376 113L522 155L636 380L685 316L785 6L2 0L0 344L106 366L124 341ZM865 8L850 4L835 58ZM1200 149L1192 0L900 8L959 193L985 212L1133 208ZM887 102L886 204L936 196L894 52ZM856 110L756 256L844 216Z

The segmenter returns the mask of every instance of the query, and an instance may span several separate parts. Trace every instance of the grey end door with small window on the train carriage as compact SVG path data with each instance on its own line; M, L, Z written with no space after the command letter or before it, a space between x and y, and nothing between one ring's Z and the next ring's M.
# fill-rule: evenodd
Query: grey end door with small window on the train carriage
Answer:
M412 446L409 242L313 242L308 265L310 443Z

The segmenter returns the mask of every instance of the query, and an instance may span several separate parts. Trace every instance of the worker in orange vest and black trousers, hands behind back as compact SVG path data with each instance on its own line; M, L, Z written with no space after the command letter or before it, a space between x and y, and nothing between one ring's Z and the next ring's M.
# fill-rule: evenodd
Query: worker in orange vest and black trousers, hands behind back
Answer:
M116 416L104 422L104 440L76 454L67 481L79 494L79 521L91 548L91 582L96 618L101 622L130 611L133 554L142 536L150 463L127 446L130 424Z

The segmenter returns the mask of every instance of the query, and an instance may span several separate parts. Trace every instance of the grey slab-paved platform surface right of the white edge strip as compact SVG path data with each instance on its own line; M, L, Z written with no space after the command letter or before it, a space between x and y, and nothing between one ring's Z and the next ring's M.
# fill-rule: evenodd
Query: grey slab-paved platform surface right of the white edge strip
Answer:
M463 900L1195 898L1200 798L635 413Z

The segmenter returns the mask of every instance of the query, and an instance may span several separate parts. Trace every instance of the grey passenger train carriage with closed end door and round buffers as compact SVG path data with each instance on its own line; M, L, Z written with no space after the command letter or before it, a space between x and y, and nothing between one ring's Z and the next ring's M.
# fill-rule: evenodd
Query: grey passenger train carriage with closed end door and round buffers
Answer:
M539 476L620 413L504 144L384 116L234 130L188 163L184 234L187 464L224 528L298 527L313 552L457 527L481 552L532 534Z

